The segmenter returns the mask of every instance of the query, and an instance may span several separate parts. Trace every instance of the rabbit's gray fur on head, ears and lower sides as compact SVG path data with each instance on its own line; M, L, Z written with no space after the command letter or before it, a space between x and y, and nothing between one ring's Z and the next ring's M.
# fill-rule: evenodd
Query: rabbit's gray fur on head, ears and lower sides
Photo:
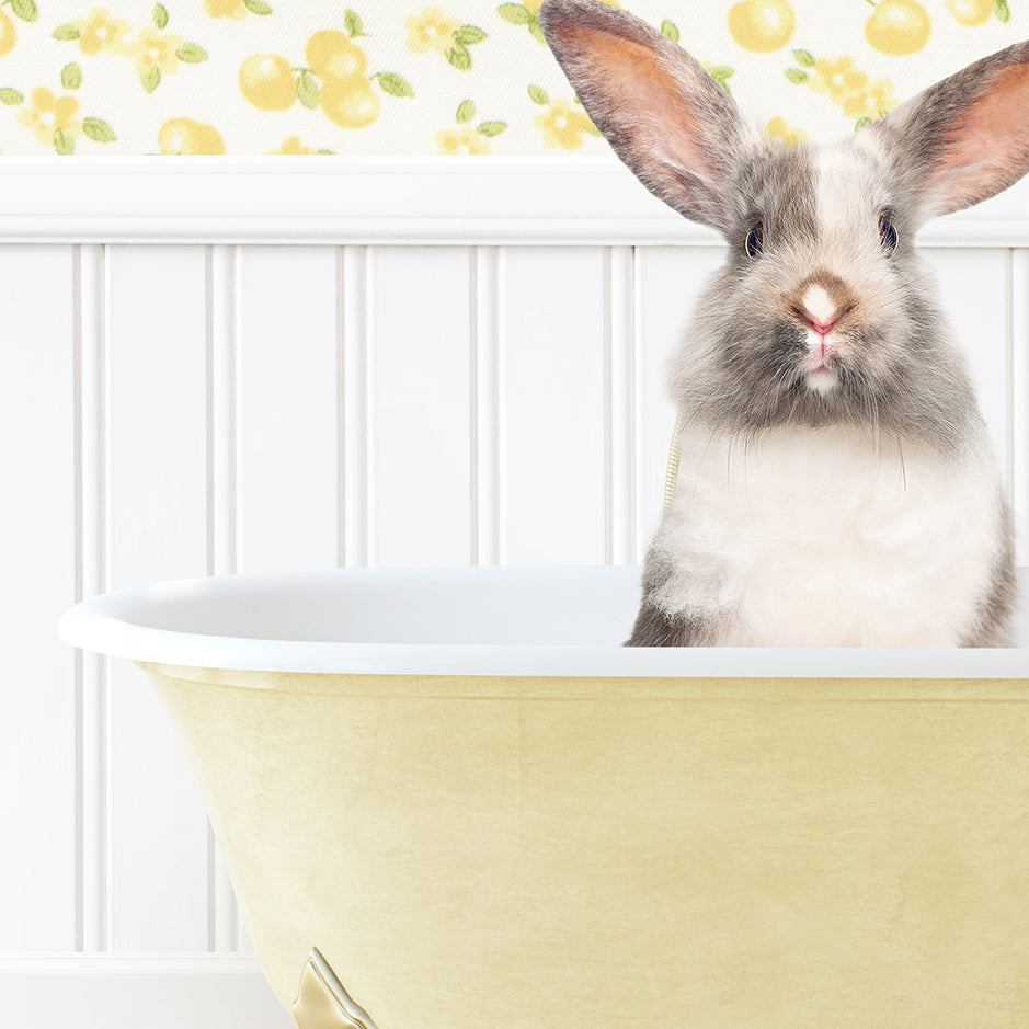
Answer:
M1014 141L1001 139L999 157L986 159L993 163L984 165L985 172L981 168L969 175L954 160L963 153L958 130L975 121L974 105L1002 78L1009 82L1014 77L1020 89L1029 43L931 87L864 137L842 145L841 158L853 178L847 209L854 211L855 227L853 236L836 231L831 237L816 203L818 151L763 140L722 87L678 46L638 18L596 0L547 0L540 24L618 156L651 192L685 217L713 226L729 243L728 261L705 289L672 364L672 395L685 420L739 435L744 443L784 425L799 431L858 425L928 445L945 460L981 457L987 447L985 425L929 270L912 241L927 216L993 195L1029 168L1029 128L1025 135L1016 128ZM595 66L587 36L607 41L601 44L604 59L610 59L611 39L644 47L648 82L655 83L662 102L639 116L634 94L625 83L611 85L609 69ZM666 77L675 81L674 90ZM633 83L632 76L628 81ZM1018 95L1029 107L1029 89ZM682 117L667 129L668 141L653 111L664 115L672 108ZM1029 110L1026 115L1029 121ZM897 232L899 245L889 253L879 242L881 218ZM764 227L764 249L754 258L745 240L757 222ZM874 282L858 271L848 279L841 268L871 268ZM810 325L800 298L812 285L842 312L833 330L836 380L827 391L811 387L804 367ZM963 645L1008 641L1014 545L999 491L995 510L1001 542L991 585L969 614ZM628 645L705 645L719 638L719 626L654 603L675 572L670 560L658 547L648 556L643 602Z

